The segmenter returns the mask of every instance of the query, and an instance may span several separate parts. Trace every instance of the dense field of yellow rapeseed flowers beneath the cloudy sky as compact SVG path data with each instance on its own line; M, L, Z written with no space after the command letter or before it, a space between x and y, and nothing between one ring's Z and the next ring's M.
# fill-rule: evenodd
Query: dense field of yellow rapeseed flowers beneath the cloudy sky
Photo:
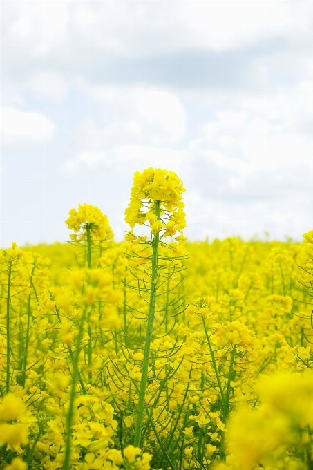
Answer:
M313 469L313 231L188 243L183 192L1 252L1 469Z

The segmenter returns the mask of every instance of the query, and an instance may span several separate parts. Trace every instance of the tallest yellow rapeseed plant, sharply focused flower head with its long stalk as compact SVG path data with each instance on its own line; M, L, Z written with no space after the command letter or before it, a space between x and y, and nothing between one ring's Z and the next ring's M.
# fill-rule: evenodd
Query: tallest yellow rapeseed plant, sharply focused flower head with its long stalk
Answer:
M168 285L173 272L182 270L178 259L183 258L182 247L184 236L182 229L186 226L184 203L182 203L182 193L184 187L182 181L172 171L149 168L142 173L135 173L133 178L133 188L131 190L131 201L125 211L125 220L131 226L146 225L150 228L151 238L146 236L137 237L133 230L126 234L126 240L133 245L133 273L138 281L138 290L141 289L149 294L149 308L146 318L146 333L144 337L144 348L142 358L142 370L140 377L137 413L135 418L134 446L140 446L142 441L142 427L145 418L145 398L148 383L149 361L151 359L151 341L155 327L155 304L158 295L169 292L160 292L163 285ZM168 243L165 238L172 238L178 232L176 241L178 243ZM161 253L160 253L161 249ZM171 250L171 256L168 252ZM162 264L159 266L159 259ZM173 259L176 259L173 261ZM169 266L173 266L173 271L169 273ZM167 275L168 274L168 275ZM163 288L164 291L164 288ZM140 296L142 294L140 292ZM160 310L164 317L161 324L168 321L168 308ZM173 310L173 309L172 309ZM160 315L158 315L160 317ZM160 326L160 323L159 323ZM166 328L167 330L167 328ZM166 331L167 332L167 331ZM149 420L150 422L151 420Z

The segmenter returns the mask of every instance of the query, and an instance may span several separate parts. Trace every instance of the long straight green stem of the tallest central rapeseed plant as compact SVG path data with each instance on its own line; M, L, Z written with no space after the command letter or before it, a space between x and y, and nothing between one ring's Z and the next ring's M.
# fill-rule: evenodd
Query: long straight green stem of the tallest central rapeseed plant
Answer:
M155 214L160 219L160 204L161 201L155 201ZM144 344L144 359L142 361L142 375L140 381L140 391L137 406L137 416L135 424L135 438L134 446L140 447L142 422L144 419L144 397L146 395L146 384L148 382L148 368L150 358L150 346L153 332L154 312L155 312L155 299L156 299L156 280L158 276L158 247L159 247L159 234L158 232L153 236L152 240L152 275L151 275L151 291L149 302L148 325L146 327L146 341Z

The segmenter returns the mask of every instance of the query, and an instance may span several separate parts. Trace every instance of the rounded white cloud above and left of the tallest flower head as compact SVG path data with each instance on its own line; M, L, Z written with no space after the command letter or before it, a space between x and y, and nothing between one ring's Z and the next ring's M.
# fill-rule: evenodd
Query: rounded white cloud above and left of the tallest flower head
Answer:
M98 151L121 144L164 147L185 135L184 106L171 91L139 86L93 86L87 90L99 106L100 119L89 118L80 124L78 140L75 136L79 148Z

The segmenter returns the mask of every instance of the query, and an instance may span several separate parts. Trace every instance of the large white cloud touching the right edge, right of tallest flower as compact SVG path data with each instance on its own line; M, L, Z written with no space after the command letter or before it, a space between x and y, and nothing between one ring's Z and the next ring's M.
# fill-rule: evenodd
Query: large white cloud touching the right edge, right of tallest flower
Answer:
M312 119L310 84L265 97L234 93L229 102L229 109L216 111L216 118L190 143L193 153L237 176L278 169L292 174L295 167L304 172L312 167L310 126L305 131L303 125Z

